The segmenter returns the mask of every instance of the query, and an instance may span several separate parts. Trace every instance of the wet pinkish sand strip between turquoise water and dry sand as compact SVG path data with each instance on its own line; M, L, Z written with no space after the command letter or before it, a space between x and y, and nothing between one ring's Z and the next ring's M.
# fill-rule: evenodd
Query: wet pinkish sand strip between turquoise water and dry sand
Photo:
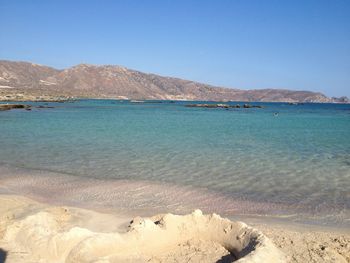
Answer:
M184 215L201 209L250 224L350 234L349 211L341 211L339 215L330 214L331 211L313 214L307 213L306 207L295 210L289 204L246 200L171 182L85 177L0 164L0 194L22 195L52 206L68 205L127 216L147 217L168 212Z

